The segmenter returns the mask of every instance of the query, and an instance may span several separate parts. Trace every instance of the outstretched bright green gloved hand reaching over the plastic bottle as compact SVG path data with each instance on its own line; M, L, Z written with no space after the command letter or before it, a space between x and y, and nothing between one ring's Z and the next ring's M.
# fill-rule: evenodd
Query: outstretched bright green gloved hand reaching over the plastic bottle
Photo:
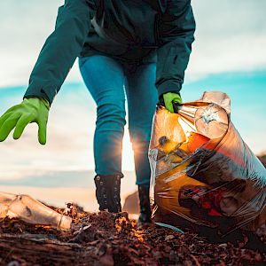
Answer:
M0 117L0 141L4 141L13 128L13 138L20 138L27 124L36 122L39 143L45 145L49 110L50 104L43 98L25 98L20 105L12 106Z

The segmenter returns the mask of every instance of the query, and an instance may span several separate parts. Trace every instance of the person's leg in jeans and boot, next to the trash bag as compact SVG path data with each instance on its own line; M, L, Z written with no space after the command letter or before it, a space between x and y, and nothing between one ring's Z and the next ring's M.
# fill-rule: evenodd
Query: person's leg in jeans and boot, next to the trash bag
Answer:
M139 224L151 222L149 186L151 169L148 159L153 114L158 102L155 87L156 63L137 66L126 73L126 92L129 106L129 135L134 150L140 203Z

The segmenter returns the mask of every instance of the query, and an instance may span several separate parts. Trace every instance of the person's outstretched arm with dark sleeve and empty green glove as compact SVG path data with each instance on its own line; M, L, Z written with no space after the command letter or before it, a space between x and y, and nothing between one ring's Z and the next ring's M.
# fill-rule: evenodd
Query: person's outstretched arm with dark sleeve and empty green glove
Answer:
M40 144L46 143L46 127L51 102L66 79L74 59L82 51L90 30L90 19L98 0L66 0L59 7L54 32L48 37L30 75L29 86L20 105L12 106L0 117L0 142L13 128L18 139L27 124L39 126Z

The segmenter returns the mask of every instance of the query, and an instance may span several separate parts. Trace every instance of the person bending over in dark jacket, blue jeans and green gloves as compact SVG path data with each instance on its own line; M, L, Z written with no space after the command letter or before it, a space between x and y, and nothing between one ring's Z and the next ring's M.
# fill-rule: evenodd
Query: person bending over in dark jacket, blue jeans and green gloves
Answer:
M84 83L97 104L94 177L99 210L121 211L121 145L125 98L134 151L140 216L151 222L148 147L153 113L160 99L168 111L181 103L195 21L189 0L66 0L30 74L20 105L0 118L0 141L20 138L38 124L40 144L53 99L76 58Z

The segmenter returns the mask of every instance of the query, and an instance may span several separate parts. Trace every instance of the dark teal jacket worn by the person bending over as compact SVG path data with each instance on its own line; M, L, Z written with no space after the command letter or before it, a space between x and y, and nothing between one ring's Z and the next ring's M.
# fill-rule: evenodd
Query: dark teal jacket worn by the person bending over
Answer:
M93 54L132 63L157 60L159 96L178 92L194 30L190 0L66 0L24 97L46 98L51 104L74 60Z

